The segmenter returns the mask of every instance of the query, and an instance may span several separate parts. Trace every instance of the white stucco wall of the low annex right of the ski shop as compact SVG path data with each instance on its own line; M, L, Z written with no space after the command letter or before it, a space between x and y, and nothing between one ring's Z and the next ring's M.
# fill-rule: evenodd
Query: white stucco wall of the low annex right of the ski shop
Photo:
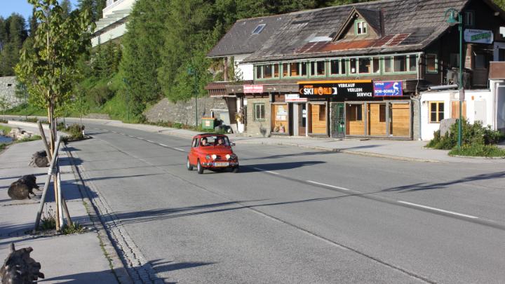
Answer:
M429 102L444 102L444 118L450 119L452 101L459 100L458 90L444 90L440 92L421 93L421 137L422 140L433 139L433 132L440 129L440 123L429 122ZM476 116L485 117L483 123L494 129L494 100L491 90L466 90L466 118L470 123L476 121ZM485 114L478 113L476 104L485 105Z

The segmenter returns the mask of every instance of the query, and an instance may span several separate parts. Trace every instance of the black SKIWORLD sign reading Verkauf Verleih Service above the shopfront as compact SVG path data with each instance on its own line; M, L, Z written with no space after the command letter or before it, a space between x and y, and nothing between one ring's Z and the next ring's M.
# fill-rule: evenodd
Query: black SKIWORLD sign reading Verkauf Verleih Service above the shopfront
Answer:
M353 81L302 81L298 82L299 97L331 98L342 97L346 100L363 100L373 97L373 85L370 80Z

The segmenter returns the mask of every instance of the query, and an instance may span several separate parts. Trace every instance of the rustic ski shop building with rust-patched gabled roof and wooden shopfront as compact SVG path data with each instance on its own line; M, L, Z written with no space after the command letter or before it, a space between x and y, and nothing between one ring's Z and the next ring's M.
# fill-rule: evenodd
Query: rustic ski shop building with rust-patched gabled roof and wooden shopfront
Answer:
M279 15L276 32L241 61L253 65L253 83L220 86L247 102L248 135L418 139L419 92L459 83L450 9L464 26L462 84L487 88L489 62L505 60L505 13L490 0L382 0ZM444 111L434 111L429 123L440 123Z

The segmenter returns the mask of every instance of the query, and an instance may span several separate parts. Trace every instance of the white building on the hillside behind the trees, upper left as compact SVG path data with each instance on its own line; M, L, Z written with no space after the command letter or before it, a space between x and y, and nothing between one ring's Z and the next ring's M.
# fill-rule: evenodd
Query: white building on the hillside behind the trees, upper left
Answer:
M119 38L126 33L126 22L137 0L107 0L102 10L103 18L98 20L91 39L93 47Z

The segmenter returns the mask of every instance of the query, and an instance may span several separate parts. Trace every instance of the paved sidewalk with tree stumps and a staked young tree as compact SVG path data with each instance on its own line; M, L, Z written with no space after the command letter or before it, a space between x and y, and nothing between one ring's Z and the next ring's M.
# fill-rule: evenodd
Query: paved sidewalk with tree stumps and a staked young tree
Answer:
M69 157L60 151L60 169L62 191L67 200L72 221L86 228L83 234L72 235L30 235L39 207L42 191L34 189L36 196L32 199L13 201L7 194L8 187L21 175L36 175L36 182L43 187L48 168L32 168L28 163L35 151L43 149L41 140L13 144L0 154L0 257L3 264L9 253L10 243L15 248L32 247L31 257L41 263L41 272L46 279L40 283L118 283L115 273L110 268L109 260L97 238L97 229L91 222L87 210L93 210L82 198L79 182L74 177ZM55 208L54 195L51 189L46 196L43 212L48 207ZM107 238L107 236L105 236ZM114 250L114 248L112 248ZM121 278L121 273L119 273ZM128 282L128 281L124 281Z

